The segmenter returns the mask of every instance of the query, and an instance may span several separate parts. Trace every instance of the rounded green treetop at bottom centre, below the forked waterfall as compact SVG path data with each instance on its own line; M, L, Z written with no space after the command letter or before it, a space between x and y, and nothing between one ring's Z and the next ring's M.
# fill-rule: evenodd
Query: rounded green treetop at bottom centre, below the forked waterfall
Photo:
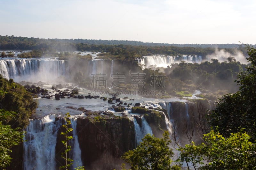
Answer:
M171 169L172 149L168 131L162 138L147 134L136 149L125 152L121 157L131 165L132 170Z

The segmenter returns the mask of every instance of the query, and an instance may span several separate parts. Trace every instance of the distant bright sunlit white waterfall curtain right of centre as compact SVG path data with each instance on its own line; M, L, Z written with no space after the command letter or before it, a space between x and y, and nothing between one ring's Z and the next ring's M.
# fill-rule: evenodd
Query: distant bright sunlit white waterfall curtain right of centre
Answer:
M144 56L144 59L139 60L139 64L145 65L145 68L153 65L156 67L165 67L170 66L173 63L201 63L202 56L201 55L182 55L182 56L164 56L164 55L157 55L157 56Z

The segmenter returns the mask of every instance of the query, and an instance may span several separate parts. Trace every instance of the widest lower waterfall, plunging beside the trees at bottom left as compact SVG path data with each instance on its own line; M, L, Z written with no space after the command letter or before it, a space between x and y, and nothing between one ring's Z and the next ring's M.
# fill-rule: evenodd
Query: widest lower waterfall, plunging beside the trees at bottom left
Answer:
M55 145L60 122L55 122L55 115L43 119L30 120L23 142L23 169L54 169Z

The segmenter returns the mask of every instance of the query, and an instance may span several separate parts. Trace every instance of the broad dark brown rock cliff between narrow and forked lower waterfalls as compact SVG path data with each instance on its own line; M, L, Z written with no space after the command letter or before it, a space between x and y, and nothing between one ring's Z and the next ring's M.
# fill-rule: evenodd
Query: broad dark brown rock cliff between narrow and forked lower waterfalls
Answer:
M134 124L127 117L77 119L78 142L85 169L112 170L120 168L120 157L135 148Z

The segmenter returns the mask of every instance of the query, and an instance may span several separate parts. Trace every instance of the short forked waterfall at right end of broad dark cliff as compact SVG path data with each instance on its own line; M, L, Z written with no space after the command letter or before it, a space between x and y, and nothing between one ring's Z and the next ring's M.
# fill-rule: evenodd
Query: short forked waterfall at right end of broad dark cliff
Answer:
M140 144L141 139L146 135L146 134L150 134L153 135L152 129L150 128L150 126L148 125L147 120L144 117L141 117L141 128L140 125L137 123L136 119L133 118L133 123L134 123L134 130L135 130L135 140L136 140L136 144Z

